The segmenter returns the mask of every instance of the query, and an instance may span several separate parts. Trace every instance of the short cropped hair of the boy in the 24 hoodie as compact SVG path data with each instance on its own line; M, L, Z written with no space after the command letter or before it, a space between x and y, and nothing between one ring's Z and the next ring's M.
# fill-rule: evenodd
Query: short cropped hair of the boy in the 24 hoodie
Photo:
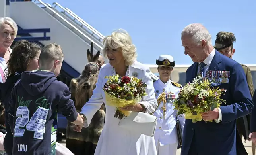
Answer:
M40 56L39 56L39 63L44 66L45 64L48 64L50 61L53 60L60 60L63 61L64 55L62 53L62 49L60 45L57 45L56 43L50 43L48 45L45 45L43 47Z

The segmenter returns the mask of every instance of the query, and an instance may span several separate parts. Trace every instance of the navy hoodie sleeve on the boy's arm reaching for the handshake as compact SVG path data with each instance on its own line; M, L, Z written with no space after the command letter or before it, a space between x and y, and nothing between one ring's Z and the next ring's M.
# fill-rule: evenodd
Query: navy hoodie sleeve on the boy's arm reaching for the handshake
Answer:
M60 99L58 110L62 112L62 115L64 115L68 119L68 121L74 122L76 121L78 112L76 112L74 102L73 100L70 99L70 97L71 97L70 91L68 87L66 87Z

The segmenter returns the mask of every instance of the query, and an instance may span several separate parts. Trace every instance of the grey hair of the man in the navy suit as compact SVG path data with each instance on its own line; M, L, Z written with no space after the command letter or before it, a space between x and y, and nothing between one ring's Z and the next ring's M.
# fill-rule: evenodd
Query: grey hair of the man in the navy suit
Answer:
M181 36L184 35L192 36L196 45L200 45L202 40L205 40L207 45L211 45L211 34L202 24L193 23L186 26L181 32Z

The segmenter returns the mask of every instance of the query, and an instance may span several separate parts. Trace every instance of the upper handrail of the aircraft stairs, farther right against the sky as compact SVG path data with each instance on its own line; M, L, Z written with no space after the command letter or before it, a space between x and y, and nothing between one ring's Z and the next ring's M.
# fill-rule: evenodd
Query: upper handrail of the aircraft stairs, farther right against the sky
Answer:
M62 11L60 11L61 13L68 13L68 15L70 15L71 17L73 17L73 19L72 19L72 21L75 21L75 20L77 20L79 23L78 23L78 25L80 25L80 27L81 28L84 28L83 26L85 26L85 30L89 33L89 34L91 34L91 36L93 36L94 38L96 38L97 40L99 40L99 41L103 41L103 38L104 38L104 36L102 37L102 34L100 34L97 30L95 30L94 28L92 28L90 25L88 25L87 23L85 23L84 21L82 21L81 19L79 19L78 17L76 17L76 15L74 15L73 13L71 13L71 11L70 10L68 10L68 9L66 9L66 8L64 8L63 6L61 6L60 4L58 4L57 2L54 2L52 5L54 5L55 4L55 6L54 6L54 8L56 9L56 7L58 6L58 7L60 7L62 10L64 10L63 12ZM70 17L70 18L71 18ZM88 30L89 29L89 30ZM95 37L93 34L95 34L97 37Z

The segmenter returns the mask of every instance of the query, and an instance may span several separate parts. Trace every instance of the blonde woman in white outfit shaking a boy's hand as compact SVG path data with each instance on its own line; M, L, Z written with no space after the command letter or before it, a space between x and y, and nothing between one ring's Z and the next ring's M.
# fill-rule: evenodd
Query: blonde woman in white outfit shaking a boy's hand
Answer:
M105 76L135 76L147 84L147 95L142 96L140 102L120 110L151 113L157 106L150 70L136 61L136 47L129 34L125 30L116 30L104 38L103 44L105 47L102 53L109 63L101 67L93 95L81 109L80 114L85 119L83 127L89 126L95 112L107 101L103 90L107 82ZM154 138L119 127L120 119L114 117L115 112L116 107L106 105L105 125L95 155L156 155Z

